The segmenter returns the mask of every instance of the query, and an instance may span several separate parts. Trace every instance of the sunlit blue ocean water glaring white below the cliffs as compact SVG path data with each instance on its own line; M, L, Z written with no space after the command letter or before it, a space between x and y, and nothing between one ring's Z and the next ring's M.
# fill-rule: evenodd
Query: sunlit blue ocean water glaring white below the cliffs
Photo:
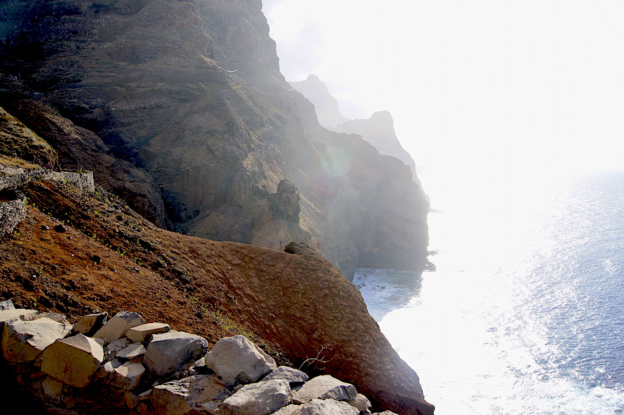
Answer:
M436 414L624 413L624 172L428 174L437 270L354 283Z

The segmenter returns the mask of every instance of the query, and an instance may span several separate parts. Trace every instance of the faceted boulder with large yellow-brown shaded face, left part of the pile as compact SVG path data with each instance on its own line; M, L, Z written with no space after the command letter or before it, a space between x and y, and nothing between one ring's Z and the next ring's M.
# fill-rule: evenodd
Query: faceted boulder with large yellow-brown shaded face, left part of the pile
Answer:
M104 360L104 349L92 338L76 334L43 351L41 370L62 383L84 388Z

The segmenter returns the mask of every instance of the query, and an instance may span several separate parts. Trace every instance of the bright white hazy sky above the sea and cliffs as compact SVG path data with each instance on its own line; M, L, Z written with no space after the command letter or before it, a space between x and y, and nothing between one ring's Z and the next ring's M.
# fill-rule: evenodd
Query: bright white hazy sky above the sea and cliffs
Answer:
M624 1L263 3L286 79L389 110L416 165L624 167Z

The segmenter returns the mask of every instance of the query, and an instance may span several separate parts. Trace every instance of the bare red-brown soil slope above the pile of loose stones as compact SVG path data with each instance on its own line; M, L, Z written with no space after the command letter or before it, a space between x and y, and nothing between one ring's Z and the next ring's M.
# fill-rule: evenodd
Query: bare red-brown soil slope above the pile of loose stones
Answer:
M0 238L0 296L17 306L69 316L137 311L212 343L247 334L296 366L323 349L328 363L316 370L352 382L376 409L433 413L359 291L313 250L168 232L102 190L51 182L22 190L27 218ZM59 220L66 232L54 230Z

